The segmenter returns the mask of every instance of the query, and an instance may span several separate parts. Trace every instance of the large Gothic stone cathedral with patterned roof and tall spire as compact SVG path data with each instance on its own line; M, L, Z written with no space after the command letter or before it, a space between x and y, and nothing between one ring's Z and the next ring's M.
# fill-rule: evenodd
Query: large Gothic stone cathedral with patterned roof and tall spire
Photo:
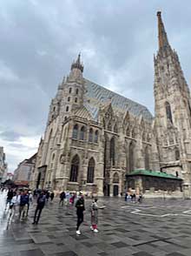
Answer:
M142 104L83 77L79 55L49 106L33 188L190 197L190 93L160 11L157 19L155 117Z

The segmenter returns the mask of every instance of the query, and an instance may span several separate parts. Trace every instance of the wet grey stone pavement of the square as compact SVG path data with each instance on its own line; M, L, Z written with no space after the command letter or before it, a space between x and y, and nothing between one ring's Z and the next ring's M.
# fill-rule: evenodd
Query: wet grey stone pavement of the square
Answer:
M99 199L106 205L99 211L99 230L89 230L86 200L82 235L76 236L76 209L48 203L38 226L32 225L35 204L29 218L8 222L5 194L0 194L0 256L191 256L191 201L147 199L142 205L123 199Z

